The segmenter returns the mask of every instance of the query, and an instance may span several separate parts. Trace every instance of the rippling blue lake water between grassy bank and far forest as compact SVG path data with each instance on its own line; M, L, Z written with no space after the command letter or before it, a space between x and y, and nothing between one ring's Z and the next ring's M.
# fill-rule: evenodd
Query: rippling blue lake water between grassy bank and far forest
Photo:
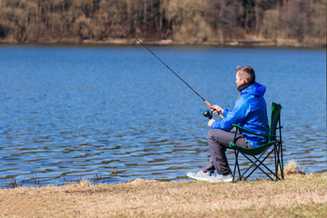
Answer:
M253 66L282 104L284 163L327 172L325 51L151 49L230 109L235 67ZM0 187L180 181L209 159L206 104L143 47L1 46L0 64Z

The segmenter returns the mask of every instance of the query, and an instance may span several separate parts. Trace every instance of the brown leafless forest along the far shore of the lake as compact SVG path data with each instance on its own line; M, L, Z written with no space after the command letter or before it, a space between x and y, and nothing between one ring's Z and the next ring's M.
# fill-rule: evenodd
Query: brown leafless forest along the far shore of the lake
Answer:
M0 0L2 43L326 46L327 0Z

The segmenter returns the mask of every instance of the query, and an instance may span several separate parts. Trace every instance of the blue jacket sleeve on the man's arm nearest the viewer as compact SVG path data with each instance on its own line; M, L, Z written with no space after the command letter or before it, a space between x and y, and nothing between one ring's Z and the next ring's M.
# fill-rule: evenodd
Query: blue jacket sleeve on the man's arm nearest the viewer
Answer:
M211 128L230 131L233 129L233 124L243 124L248 113L248 104L243 97L240 97L233 105L232 111L223 109L223 119L213 122Z

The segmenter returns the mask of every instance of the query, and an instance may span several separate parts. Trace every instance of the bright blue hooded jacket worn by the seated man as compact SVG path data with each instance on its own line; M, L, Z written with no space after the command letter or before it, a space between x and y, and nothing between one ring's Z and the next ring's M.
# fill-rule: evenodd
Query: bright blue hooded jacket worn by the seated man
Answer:
M254 133L269 134L267 105L263 98L265 90L266 87L258 83L244 89L233 104L233 110L229 111L223 108L223 119L213 122L211 127L230 131L233 129L233 124L238 124ZM267 142L267 139L262 136L243 132L241 134L253 147Z

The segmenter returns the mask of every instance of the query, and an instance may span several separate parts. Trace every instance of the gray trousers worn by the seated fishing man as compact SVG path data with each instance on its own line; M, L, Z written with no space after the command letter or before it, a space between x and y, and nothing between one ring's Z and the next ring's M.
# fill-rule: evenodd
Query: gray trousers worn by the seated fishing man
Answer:
M227 132L219 129L211 129L207 134L208 146L210 150L210 160L203 167L204 172L213 173L214 170L220 174L232 173L227 158L226 149L230 148L229 144L233 142L235 133ZM243 134L236 135L236 144L245 148L252 148L245 141Z

